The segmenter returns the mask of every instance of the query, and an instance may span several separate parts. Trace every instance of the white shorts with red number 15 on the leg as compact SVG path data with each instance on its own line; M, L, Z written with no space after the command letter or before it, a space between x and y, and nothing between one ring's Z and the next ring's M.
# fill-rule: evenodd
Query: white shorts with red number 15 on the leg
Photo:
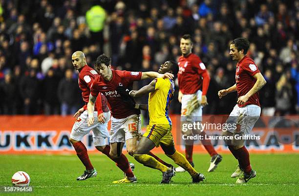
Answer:
M131 138L141 136L141 118L140 115L131 115L127 118L111 117L111 130L109 142L123 142Z

